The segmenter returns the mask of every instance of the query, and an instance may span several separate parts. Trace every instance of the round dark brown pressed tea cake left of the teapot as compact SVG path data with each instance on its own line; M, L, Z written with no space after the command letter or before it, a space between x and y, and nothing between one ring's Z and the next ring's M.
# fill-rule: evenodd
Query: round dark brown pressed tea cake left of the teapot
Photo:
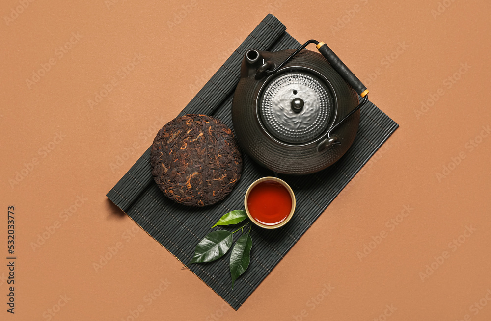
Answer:
M188 206L225 198L242 172L230 128L201 114L177 117L158 132L151 148L152 175L164 194Z

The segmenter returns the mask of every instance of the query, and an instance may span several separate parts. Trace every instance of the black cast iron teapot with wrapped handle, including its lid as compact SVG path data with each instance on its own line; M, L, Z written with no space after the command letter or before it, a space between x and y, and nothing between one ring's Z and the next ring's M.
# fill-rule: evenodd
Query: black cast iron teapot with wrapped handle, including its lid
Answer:
M321 54L303 50L317 44ZM300 49L247 50L232 103L242 148L277 173L334 164L353 143L368 90L323 42ZM361 102L358 100L360 95Z

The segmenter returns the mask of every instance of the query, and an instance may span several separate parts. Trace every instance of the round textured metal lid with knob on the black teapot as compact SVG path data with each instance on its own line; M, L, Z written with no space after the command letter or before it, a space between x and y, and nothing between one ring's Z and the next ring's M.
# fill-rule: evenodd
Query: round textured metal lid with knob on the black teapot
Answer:
M321 136L333 113L333 97L324 81L311 73L274 75L258 101L267 131L276 139L303 144Z

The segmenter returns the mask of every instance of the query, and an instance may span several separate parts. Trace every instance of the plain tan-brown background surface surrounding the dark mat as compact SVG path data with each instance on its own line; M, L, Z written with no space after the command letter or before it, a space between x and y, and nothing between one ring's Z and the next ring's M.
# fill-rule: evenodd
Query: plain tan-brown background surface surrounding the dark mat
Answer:
M0 259L1 320L490 320L489 1L109 1L1 1L0 253L15 205L18 257L15 317ZM267 13L325 41L400 128L236 312L105 195Z

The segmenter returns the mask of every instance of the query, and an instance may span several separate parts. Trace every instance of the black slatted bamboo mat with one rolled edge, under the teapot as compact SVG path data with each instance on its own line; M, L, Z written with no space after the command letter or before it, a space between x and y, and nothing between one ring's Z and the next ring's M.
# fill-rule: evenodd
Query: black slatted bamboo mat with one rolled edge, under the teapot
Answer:
M266 16L179 115L211 115L233 129L232 97L239 81L244 53L251 48L269 51L299 48L300 43L285 30L286 27L273 15ZM290 184L295 192L295 215L288 224L278 230L252 229L250 264L246 272L235 282L234 290L231 290L229 253L212 263L193 264L190 267L191 271L234 309L238 309L397 127L397 123L374 104L369 103L361 110L355 142L333 166L322 172L304 176L280 174L279 177ZM223 214L234 209L244 209L247 187L260 177L274 175L273 172L256 165L245 153L243 161L244 169L240 182L227 198L211 207L189 208L166 198L151 174L150 148L107 196L148 234L186 264L191 260L196 244L211 231L210 227Z

